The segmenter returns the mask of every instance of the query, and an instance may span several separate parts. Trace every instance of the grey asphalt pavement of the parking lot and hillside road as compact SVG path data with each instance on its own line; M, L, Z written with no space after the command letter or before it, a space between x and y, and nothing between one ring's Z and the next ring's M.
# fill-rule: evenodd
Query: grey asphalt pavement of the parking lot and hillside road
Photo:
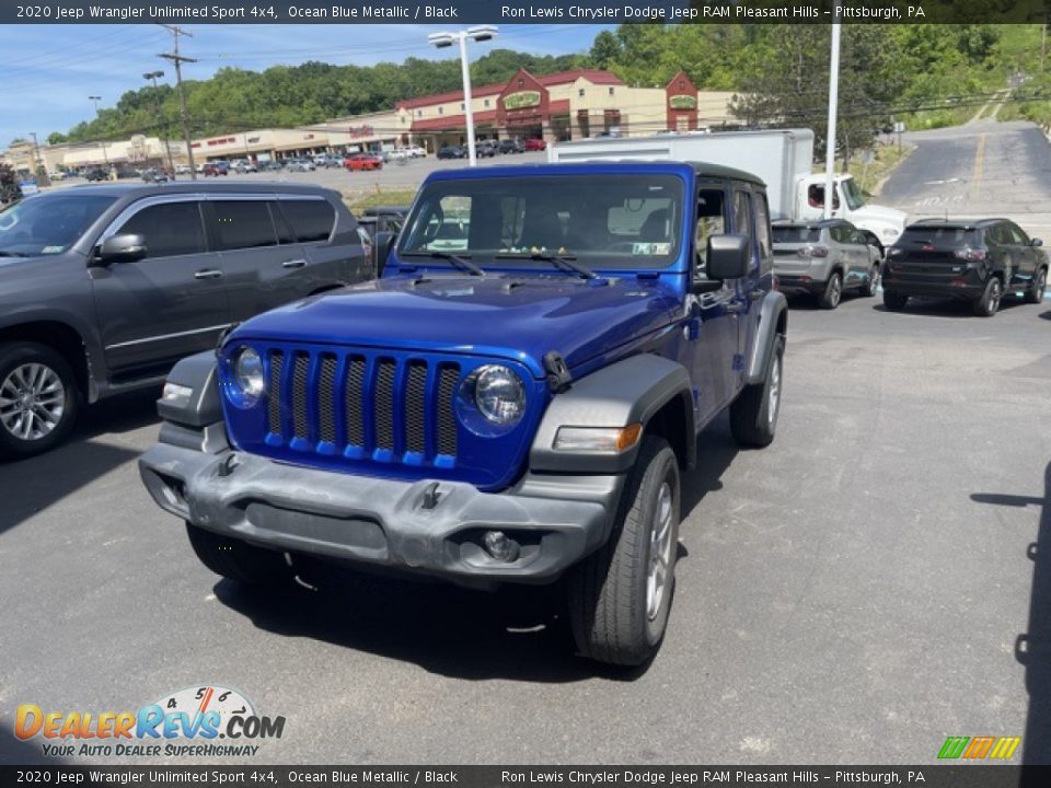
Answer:
M1032 134L917 137L886 194L909 207L959 176L931 175L940 151L977 177L961 211L1012 170L1019 205L1046 204ZM287 718L261 763L933 764L950 734L1020 735L1049 763L1049 332L1051 301L991 320L794 303L777 439L738 451L723 419L701 437L669 634L635 673L571 653L553 590L219 581L138 480L155 393L103 403L0 466L0 761L41 760L19 704L136 709L210 683Z

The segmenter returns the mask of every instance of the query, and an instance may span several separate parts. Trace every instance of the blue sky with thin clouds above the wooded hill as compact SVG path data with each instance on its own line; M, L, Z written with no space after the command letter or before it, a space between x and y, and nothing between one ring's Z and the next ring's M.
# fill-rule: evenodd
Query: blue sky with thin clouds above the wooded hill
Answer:
M469 25L463 25L469 26ZM505 24L496 39L469 46L472 59L494 48L533 55L586 51L594 35L612 25ZM262 71L270 66L322 60L371 66L406 57L444 59L458 50L432 49L427 35L444 25L188 25L181 51L198 59L184 79L207 79L224 66ZM175 69L158 58L172 36L158 25L0 25L0 150L12 139L43 143L51 131L67 131L94 115L88 96L113 106L122 94L147 84L142 74L163 70L174 84Z

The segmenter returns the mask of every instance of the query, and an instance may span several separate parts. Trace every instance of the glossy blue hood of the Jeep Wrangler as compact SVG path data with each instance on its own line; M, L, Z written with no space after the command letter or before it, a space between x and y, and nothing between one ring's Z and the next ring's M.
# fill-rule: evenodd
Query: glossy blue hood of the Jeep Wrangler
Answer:
M538 378L543 357L574 369L671 322L674 298L657 281L566 275L397 277L299 301L242 324L228 341L264 339L476 354L519 360Z

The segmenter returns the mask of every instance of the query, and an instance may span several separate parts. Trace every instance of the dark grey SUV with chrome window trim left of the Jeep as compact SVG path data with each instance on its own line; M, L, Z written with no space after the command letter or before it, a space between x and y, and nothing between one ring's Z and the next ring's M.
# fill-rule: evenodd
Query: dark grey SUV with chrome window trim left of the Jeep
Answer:
M55 189L0 212L0 455L154 386L259 312L372 276L336 192L246 182Z

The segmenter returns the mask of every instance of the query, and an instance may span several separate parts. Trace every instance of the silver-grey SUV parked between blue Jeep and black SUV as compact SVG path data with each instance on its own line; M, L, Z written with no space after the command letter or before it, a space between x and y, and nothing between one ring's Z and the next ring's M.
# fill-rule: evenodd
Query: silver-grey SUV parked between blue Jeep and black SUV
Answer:
M774 222L774 274L786 294L809 293L823 309L843 292L873 297L879 288L879 247L843 219Z

